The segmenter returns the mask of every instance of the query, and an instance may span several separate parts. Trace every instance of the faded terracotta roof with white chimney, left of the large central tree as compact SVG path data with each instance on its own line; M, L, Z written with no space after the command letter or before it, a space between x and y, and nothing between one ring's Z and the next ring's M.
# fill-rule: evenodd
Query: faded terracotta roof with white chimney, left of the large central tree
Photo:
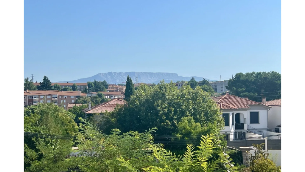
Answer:
M114 110L114 108L117 107L118 105L122 106L126 103L127 103L126 101L121 100L121 99L112 99L107 102L104 102L104 103L91 107L91 110L89 110L88 108L83 109L83 112L86 114L102 113L102 112L105 112L106 110L108 112L112 112Z

